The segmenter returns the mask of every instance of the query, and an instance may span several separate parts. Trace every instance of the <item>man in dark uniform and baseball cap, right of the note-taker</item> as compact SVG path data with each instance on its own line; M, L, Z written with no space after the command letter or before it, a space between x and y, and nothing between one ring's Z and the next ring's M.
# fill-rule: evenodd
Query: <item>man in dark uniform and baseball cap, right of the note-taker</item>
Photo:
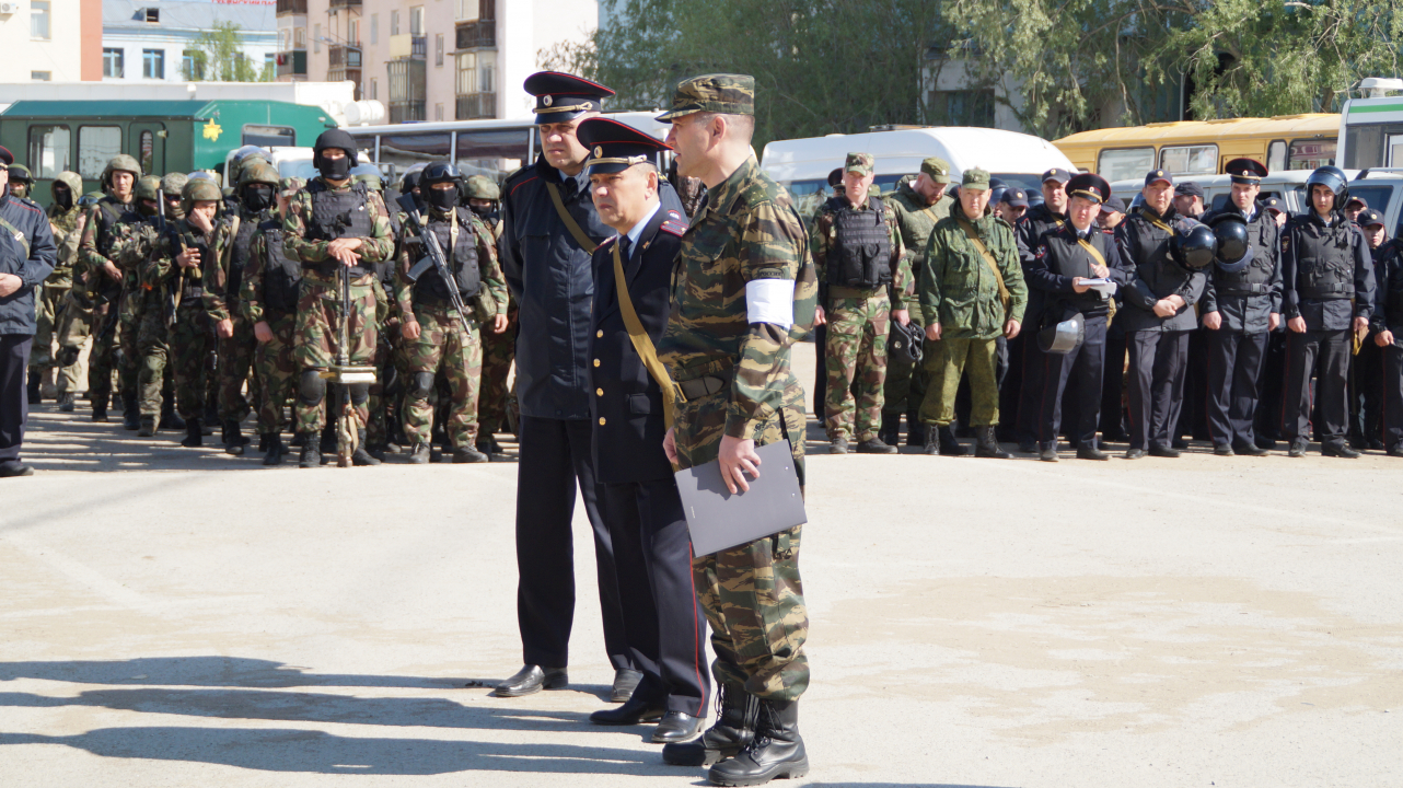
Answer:
M1127 304L1125 348L1129 351L1131 447L1127 460L1177 457L1173 429L1184 404L1188 332L1198 328L1194 304L1208 282L1173 259L1174 233L1198 224L1174 209L1174 182L1166 170L1145 175L1145 202L1115 229L1115 243L1131 280L1121 292ZM1176 433L1177 435L1177 433Z

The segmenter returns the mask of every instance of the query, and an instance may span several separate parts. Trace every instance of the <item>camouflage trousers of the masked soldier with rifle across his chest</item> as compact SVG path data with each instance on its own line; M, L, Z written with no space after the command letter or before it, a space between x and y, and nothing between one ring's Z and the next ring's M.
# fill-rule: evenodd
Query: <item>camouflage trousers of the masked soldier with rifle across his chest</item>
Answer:
M414 304L419 338L404 339L405 388L404 436L410 443L428 444L434 433L432 377L443 372L449 404L443 426L453 449L471 447L477 440L477 394L483 377L483 341L477 324L464 331L453 307ZM428 386L415 379L429 376Z

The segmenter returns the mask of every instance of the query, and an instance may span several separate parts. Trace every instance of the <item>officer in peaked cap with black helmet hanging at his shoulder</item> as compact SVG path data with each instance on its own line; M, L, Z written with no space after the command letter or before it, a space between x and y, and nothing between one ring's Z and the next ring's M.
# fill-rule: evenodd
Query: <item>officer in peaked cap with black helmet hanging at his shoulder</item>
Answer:
M1232 177L1228 205L1204 215L1219 238L1200 301L1208 335L1208 430L1214 454L1260 456L1267 451L1257 446L1253 425L1267 338L1281 322L1281 231L1271 212L1257 205L1267 168L1253 158L1233 158L1225 170ZM1239 234L1246 238L1242 257L1226 259L1229 236Z

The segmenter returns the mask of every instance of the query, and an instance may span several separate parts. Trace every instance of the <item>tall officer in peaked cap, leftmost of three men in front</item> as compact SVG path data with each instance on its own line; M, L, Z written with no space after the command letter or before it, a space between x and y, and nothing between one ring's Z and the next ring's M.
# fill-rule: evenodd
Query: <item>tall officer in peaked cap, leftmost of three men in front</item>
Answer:
M516 492L516 613L525 666L497 686L515 697L568 683L570 628L575 610L570 522L575 485L595 533L595 566L603 613L605 651L615 667L616 701L643 679L629 655L609 529L599 515L591 458L589 306L591 257L613 236L589 199L588 151L575 129L603 108L613 91L571 74L540 72L526 79L536 97L542 156L502 185L498 241L506 285L519 304L516 397L521 463ZM662 208L682 210L672 186L659 186Z

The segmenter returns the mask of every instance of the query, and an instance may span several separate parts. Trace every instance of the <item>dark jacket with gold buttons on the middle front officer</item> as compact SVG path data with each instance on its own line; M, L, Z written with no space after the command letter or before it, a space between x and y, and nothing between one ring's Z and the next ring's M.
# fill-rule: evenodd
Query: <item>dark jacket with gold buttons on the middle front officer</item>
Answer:
M682 248L687 220L680 210L659 208L638 236L636 248L623 248L623 273L638 321L652 338L668 327L672 268ZM595 475L600 484L650 481L672 475L662 451L662 390L633 348L619 308L615 283L615 245L610 238L595 251L595 308L591 321L591 425L595 433ZM593 360L591 365L593 365Z

